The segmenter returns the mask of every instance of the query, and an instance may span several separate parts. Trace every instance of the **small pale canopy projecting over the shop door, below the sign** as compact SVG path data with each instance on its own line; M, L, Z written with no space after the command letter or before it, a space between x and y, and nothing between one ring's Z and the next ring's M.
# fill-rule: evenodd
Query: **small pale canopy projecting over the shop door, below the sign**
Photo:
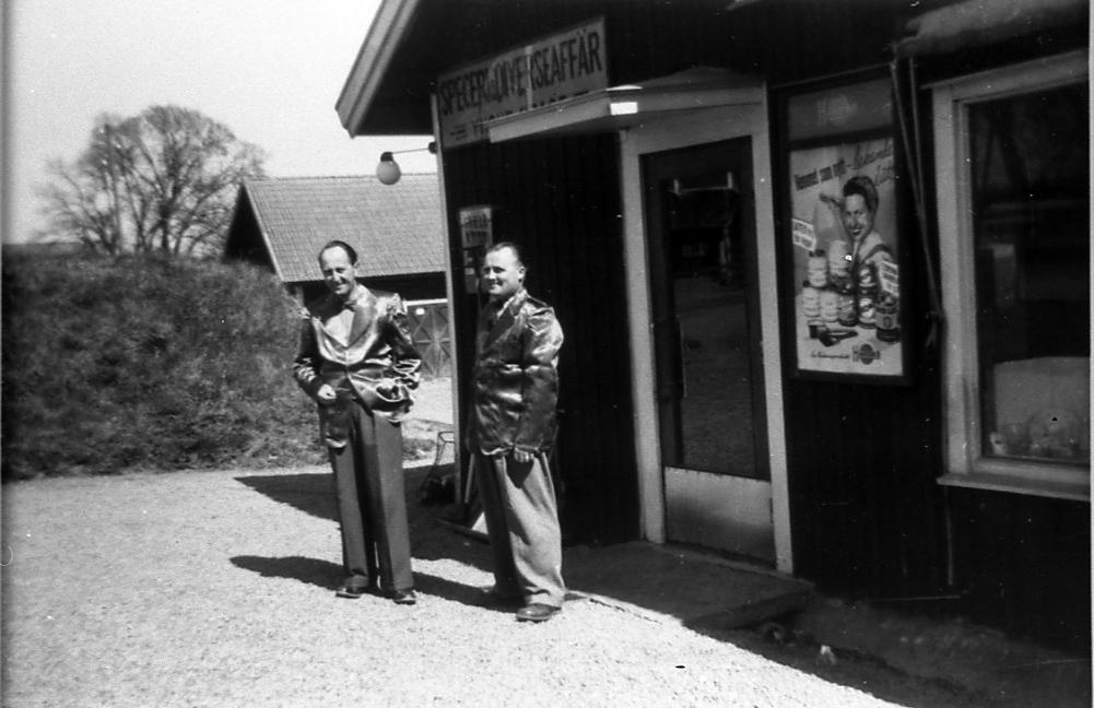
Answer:
M613 132L662 115L759 105L763 101L760 79L728 69L696 67L502 116L484 125L490 142L503 142L533 136Z

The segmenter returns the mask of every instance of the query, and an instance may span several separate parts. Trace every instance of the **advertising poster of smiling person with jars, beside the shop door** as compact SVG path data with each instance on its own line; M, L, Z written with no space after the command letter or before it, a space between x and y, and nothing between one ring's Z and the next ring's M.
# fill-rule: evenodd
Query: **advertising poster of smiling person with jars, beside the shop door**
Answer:
M799 372L899 379L893 138L790 152Z

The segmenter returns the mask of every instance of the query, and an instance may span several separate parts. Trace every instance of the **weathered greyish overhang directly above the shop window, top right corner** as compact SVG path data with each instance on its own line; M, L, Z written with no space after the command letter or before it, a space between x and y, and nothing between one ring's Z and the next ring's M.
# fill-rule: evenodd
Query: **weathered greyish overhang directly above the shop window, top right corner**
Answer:
M896 43L898 57L950 54L1089 23L1089 0L963 0L924 12L906 26L911 36Z

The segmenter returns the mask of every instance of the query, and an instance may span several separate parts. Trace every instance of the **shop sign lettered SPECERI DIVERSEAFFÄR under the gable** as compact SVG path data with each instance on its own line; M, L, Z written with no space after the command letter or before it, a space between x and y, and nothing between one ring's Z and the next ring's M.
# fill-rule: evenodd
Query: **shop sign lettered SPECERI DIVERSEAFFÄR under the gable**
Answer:
M601 18L438 77L441 146L449 149L487 140L487 120L607 85Z

